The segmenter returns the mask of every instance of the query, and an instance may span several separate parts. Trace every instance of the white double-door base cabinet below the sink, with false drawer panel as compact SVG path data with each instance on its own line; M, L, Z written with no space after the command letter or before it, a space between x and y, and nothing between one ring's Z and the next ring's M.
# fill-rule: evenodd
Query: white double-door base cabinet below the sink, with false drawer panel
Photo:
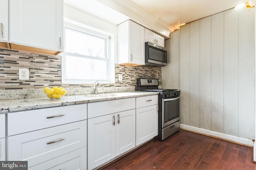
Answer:
M113 100L88 104L88 117L92 117L89 115L92 115L90 112L93 108L95 113L99 108L108 113L104 115L106 112L102 111L101 116L88 119L88 170L135 147L135 98L115 101L116 104L121 102L122 106L127 106L120 107L117 113L114 113L117 109L113 107L114 111L109 114ZM124 108L130 110L122 111Z

